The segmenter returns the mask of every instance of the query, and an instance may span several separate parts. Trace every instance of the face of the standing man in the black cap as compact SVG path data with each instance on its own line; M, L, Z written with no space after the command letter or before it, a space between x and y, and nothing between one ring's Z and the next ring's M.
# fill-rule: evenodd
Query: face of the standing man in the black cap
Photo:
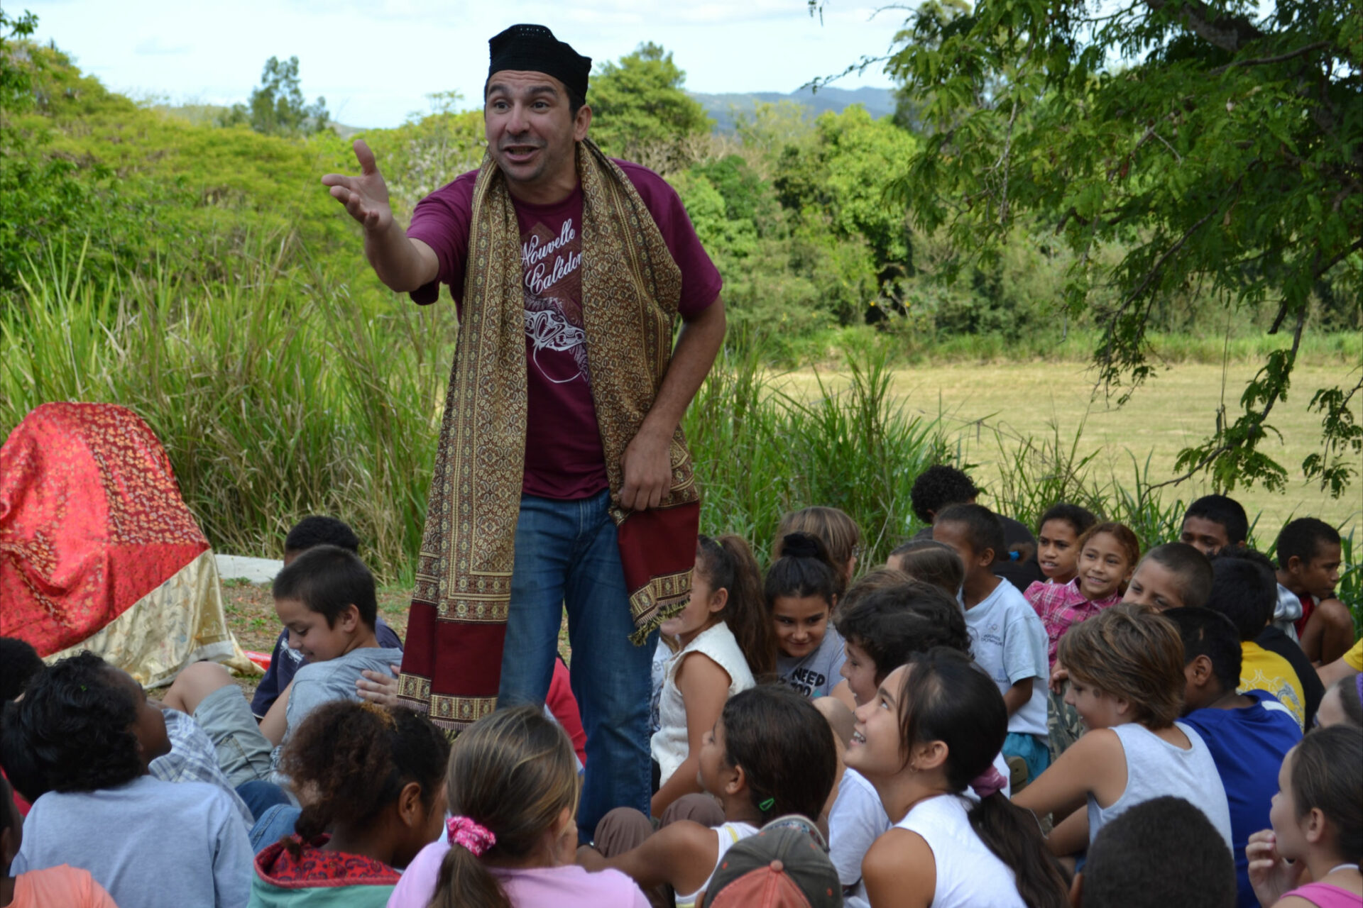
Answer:
M592 109L574 117L568 91L542 72L503 69L488 82L483 124L488 151L512 195L523 195L574 174L577 142L587 135ZM517 192L521 189L522 192Z

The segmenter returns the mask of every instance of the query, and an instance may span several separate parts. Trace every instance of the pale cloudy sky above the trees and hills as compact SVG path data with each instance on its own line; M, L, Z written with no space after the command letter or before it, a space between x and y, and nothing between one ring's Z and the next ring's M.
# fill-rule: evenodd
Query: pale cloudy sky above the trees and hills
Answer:
M172 102L243 101L266 59L297 56L303 91L326 97L333 118L393 127L458 90L473 106L488 38L538 22L594 60L643 41L673 52L692 91L792 91L886 50L902 11L874 15L830 0L822 23L804 0L5 0L38 15L56 41L108 87ZM887 86L879 68L841 87Z

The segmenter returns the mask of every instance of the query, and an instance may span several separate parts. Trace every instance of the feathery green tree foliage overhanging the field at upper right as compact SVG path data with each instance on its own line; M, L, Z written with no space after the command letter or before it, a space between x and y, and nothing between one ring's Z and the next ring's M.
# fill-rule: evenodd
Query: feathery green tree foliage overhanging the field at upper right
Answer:
M924 230L945 230L962 250L954 267L996 259L1018 225L1045 223L1074 256L1065 305L1101 327L1094 359L1109 387L1130 383L1130 393L1152 374L1152 313L1180 294L1268 306L1269 332L1291 332L1239 412L1223 408L1179 460L1221 489L1284 487L1287 470L1259 445L1308 316L1343 304L1344 321L1358 324L1358 4L928 3L900 41L883 60L927 131L900 196ZM1100 302L1108 286L1116 293ZM1302 468L1334 496L1363 453L1360 391L1349 376L1311 402L1322 444Z

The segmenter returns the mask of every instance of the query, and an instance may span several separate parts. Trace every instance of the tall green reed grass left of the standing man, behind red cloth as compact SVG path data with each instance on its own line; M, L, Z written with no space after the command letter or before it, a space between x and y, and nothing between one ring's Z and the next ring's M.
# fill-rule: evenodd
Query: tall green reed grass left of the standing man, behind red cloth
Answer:
M421 540L448 308L365 313L323 275L256 246L222 282L87 280L82 256L25 278L0 310L0 433L49 400L136 411L219 551L278 555L289 525L334 513L399 579Z

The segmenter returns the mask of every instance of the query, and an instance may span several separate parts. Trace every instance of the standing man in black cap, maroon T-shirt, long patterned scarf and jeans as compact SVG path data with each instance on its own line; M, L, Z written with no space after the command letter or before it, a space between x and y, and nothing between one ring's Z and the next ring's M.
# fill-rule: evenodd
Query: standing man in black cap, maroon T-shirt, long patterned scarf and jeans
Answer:
M699 523L679 423L724 339L721 282L672 188L587 139L590 59L542 26L488 44L488 154L406 231L363 142L358 177L322 181L388 287L459 306L401 696L448 728L542 704L566 604L590 837L649 806L652 644Z

